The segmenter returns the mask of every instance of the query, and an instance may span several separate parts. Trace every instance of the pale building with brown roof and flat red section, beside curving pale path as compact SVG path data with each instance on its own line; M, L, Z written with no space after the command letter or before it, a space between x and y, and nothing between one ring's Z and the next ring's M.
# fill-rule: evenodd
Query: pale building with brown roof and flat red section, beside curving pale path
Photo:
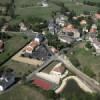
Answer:
M52 69L48 67L46 69L46 72L43 69L35 74L33 84L44 90L55 90L59 87L63 78L67 76L68 70L66 70L62 63L56 64Z

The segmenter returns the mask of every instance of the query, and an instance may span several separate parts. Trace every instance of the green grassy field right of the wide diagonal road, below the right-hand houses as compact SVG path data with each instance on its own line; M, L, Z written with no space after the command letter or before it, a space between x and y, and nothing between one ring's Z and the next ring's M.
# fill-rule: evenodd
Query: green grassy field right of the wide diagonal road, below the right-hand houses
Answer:
M100 73L100 56L94 56L91 51L80 48L80 45L82 43L73 48L74 54L70 56L75 56L83 67L90 67L98 76Z

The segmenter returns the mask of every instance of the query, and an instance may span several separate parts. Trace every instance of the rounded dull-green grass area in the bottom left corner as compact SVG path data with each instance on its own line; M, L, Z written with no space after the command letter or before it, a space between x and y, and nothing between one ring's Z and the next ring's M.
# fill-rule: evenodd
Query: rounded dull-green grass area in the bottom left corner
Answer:
M0 100L48 100L43 94L41 94L35 88L31 88L26 85L18 85L0 95Z

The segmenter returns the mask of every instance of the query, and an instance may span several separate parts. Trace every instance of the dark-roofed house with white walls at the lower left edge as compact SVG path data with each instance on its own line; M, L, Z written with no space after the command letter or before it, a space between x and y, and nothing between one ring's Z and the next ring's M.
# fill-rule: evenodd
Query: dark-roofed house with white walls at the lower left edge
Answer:
M0 76L0 91L4 91L15 82L13 72L5 72Z

